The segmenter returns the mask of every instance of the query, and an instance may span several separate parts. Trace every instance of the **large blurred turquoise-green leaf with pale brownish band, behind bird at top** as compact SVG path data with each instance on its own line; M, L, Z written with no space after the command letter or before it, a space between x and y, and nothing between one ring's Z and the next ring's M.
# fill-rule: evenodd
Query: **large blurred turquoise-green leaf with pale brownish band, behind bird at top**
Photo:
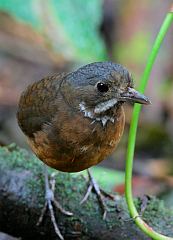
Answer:
M55 52L81 62L103 61L102 0L0 0L0 10L45 36Z

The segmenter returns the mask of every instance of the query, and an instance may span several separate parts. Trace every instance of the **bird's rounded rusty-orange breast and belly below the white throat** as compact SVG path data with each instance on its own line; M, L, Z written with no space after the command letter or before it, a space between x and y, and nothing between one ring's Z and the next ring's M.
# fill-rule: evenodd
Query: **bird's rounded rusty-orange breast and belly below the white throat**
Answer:
M103 127L100 121L83 113L61 112L52 124L28 139L35 154L52 168L63 172L78 172L96 165L113 152L124 129L123 108L116 110L114 123L108 120Z

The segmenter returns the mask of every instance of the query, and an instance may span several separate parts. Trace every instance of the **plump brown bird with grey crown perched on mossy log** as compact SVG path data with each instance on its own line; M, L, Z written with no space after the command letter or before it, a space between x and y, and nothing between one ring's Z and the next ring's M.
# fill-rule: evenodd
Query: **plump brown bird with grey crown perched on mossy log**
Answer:
M62 172L79 172L98 164L117 147L125 125L125 102L150 104L134 89L127 68L110 61L94 62L29 85L19 99L17 119L41 161ZM48 188L47 171L45 175ZM63 239L59 230L57 234Z

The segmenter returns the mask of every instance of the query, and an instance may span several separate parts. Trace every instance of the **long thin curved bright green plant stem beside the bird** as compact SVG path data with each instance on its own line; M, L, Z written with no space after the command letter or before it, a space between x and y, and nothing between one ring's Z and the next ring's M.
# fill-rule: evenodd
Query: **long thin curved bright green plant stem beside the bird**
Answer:
M173 7L172 7L173 8ZM157 35L157 38L155 40L155 43L153 45L153 48L151 50L145 71L143 73L139 91L141 93L144 93L145 88L147 86L147 82L153 67L153 64L155 62L156 56L158 54L158 51L160 49L161 43L173 22L173 11L170 11L160 28L160 31ZM126 201L128 205L128 209L130 212L131 217L134 219L138 227L149 237L155 240L171 240L173 238L166 237L162 234L159 234L155 232L151 227L149 227L140 217L136 210L136 207L133 202L133 195L132 195L132 168L133 168L133 157L134 157L134 149L135 149L135 139L136 139L136 132L137 132L137 126L138 126L138 119L139 114L141 111L141 105L135 104L133 114L132 114L132 120L130 125L130 132L129 132L129 141L128 141L128 148L127 148L127 157L126 157L126 175L125 175L125 184L126 184Z

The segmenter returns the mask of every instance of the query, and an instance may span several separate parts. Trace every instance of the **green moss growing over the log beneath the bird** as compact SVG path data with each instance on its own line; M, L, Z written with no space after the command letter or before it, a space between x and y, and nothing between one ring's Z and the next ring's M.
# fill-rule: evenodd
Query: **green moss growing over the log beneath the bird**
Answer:
M6 170L15 171L19 174L26 174L26 179L22 183L24 190L20 195L20 201L24 206L31 206L37 209L39 216L44 205L44 176L41 161L29 154L26 150L11 144L8 147L0 148L0 171ZM103 220L103 212L98 204L98 199L95 194L91 194L87 202L80 205L80 201L87 191L86 180L80 174L61 173L49 169L49 172L56 174L56 199L62 203L63 207L74 213L72 217L62 218L65 221L65 226L76 226L82 228L85 226L85 233L88 229L93 229L93 224L96 228L104 229L105 231L118 229L119 226L126 228L129 224L133 228L132 219L130 218L125 199L118 197L114 201L106 199L108 214L106 221ZM135 204L140 209L141 201L136 199ZM38 211L38 208L40 209ZM59 211L58 218L61 217ZM165 234L172 234L173 229L173 209L166 209L163 201L152 198L148 204L143 218L157 231L162 231ZM131 226L130 225L130 226ZM87 226L87 229L86 229Z

